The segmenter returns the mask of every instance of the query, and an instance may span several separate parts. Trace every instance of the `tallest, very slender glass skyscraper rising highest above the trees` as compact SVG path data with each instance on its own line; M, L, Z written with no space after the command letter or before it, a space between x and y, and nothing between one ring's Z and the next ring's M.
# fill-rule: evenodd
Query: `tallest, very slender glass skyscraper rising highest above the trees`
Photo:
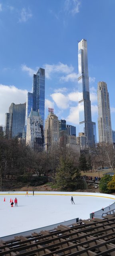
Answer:
M79 132L85 133L88 147L91 148L94 146L94 139L89 95L87 41L85 39L78 43L78 71Z

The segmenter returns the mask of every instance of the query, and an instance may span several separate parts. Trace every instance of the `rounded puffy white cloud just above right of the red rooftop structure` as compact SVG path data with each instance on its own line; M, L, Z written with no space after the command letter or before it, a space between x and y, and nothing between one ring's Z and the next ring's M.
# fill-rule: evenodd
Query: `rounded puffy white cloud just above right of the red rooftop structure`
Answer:
M61 108L61 109L69 108L68 97L62 94L61 92L52 93L50 96L52 97L52 99L54 100L58 108Z

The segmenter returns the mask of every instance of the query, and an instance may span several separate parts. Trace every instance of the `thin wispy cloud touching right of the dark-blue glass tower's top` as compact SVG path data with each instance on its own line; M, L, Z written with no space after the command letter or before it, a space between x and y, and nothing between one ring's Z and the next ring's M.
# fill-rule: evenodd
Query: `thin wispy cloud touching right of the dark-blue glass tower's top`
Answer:
M63 64L61 62L59 62L57 64L52 64L52 65L44 64L44 68L45 68L46 78L48 78L48 79L51 78L51 74L53 74L53 73L69 74L74 70L72 65L68 66L67 64Z

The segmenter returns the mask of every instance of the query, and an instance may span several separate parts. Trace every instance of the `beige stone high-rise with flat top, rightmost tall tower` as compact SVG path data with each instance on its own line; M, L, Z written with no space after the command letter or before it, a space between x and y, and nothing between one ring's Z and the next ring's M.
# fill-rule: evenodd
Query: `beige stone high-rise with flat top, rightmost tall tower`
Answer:
M107 84L99 82L97 88L99 142L113 143L111 114Z

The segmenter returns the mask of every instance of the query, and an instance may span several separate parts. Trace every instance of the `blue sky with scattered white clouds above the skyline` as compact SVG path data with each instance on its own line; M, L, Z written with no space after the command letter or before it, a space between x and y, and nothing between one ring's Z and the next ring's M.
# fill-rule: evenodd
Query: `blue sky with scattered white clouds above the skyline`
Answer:
M41 67L46 117L54 107L78 134L77 41L85 38L92 121L97 124L97 83L104 81L115 130L115 0L0 0L0 35L0 124L12 102L26 101Z

